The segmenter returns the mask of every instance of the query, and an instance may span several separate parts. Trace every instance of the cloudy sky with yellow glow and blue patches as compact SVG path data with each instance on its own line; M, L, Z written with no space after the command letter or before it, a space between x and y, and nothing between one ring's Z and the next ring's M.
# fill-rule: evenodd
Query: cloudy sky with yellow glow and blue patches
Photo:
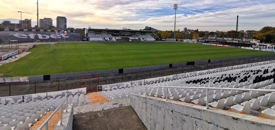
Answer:
M275 0L39 0L39 19L67 18L67 27L121 29L124 26L199 31L260 30L275 26ZM23 11L36 14L36 0L0 0L0 19L20 19ZM34 14L22 13L22 19L37 21ZM2 22L2 21L0 21ZM34 25L32 25L34 26Z

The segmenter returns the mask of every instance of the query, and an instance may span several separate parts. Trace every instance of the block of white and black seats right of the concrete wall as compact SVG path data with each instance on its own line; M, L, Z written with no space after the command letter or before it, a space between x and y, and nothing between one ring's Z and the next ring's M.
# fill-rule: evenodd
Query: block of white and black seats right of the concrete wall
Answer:
M130 93L167 98L186 103L205 105L206 89L166 88L171 87L209 87L209 88L245 88L274 90L275 63L236 68L233 70L202 74L176 80L156 82L143 87L129 87L100 92L109 99L127 97ZM148 87L145 87L148 86ZM275 119L275 92L209 90L209 105L217 109L244 112L246 114Z

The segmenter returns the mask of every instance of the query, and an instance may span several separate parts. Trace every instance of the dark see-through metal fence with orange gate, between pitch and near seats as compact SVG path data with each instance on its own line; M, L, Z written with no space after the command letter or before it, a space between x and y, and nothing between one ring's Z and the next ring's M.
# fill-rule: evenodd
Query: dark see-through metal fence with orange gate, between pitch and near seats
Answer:
M148 78L156 78L161 76L168 76L174 74L181 74L187 72L195 72L200 70L209 70L214 68L222 68L228 66L236 66L241 64L249 64L256 62L264 62L275 60L275 57L249 57L246 59L237 59L237 60L226 60L228 58L213 60L210 63L201 63L194 65L185 65L185 66L177 66L172 68L161 68L156 70L146 70L146 71L136 71L129 73L121 73L121 74L109 74L109 75L100 75L99 76L99 85L104 84L114 84L120 82L128 82L134 80L148 79ZM81 82L81 87L89 87L89 83L91 88L95 88L97 86L97 78L91 78L90 81L84 80ZM43 93L43 92L52 92L52 91L60 91L60 90L68 90L80 88L80 79L79 78L71 78L71 79L63 79L63 80L50 80L43 82L22 82L22 83L8 83L8 84L0 84L0 96L15 96L22 94L35 94L35 93ZM91 89L88 92L95 92L95 89Z

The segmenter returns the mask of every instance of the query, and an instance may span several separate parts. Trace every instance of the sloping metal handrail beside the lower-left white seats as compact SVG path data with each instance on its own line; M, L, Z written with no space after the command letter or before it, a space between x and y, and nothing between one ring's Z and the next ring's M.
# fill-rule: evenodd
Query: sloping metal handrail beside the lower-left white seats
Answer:
M37 130L42 130L44 126L45 126L45 130L48 130L48 122L54 116L56 111L58 111L59 108L60 108L60 124L62 124L62 118L63 118L62 105L65 101L67 101L67 103L66 103L66 112L67 112L68 111L68 98L69 97L71 98L71 95L66 97L66 99L55 109L55 111L46 119L46 121L44 121L44 123L42 125L40 125L40 127Z

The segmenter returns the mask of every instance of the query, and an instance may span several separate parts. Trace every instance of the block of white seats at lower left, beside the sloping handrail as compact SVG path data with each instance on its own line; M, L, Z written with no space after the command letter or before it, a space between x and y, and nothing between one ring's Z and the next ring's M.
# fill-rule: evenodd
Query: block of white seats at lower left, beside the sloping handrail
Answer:
M84 94L76 93L71 96L70 103L73 107L86 105ZM56 98L47 97L42 100L19 102L11 100L0 104L0 130L29 130L44 115L50 113L64 101L66 96L59 95ZM63 104L65 108L66 103Z

